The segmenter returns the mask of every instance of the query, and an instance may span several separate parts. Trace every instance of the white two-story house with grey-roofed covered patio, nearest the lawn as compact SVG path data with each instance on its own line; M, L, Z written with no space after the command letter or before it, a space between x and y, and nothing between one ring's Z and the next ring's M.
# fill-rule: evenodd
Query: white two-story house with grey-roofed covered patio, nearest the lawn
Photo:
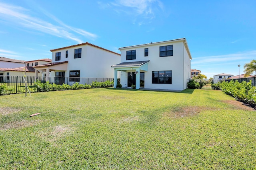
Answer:
M121 63L114 68L114 88L120 75L122 87L182 91L190 79L192 59L185 38L119 48Z

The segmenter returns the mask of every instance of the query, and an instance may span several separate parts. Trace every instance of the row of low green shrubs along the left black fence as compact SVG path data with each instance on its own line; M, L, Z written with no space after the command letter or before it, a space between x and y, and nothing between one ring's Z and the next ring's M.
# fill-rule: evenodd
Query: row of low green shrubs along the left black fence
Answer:
M88 89L88 88L104 88L113 87L114 81L107 80L105 82L92 82L92 84L79 84L75 82L71 86L68 84L50 84L49 81L42 83L39 80L34 82L38 92L48 92L48 91L60 91L60 90L76 90L76 89Z

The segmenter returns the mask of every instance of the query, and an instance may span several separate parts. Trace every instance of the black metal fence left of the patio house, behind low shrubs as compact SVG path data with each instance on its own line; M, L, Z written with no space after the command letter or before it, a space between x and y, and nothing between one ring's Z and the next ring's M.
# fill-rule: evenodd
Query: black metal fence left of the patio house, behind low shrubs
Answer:
M39 76L0 76L0 86L6 85L10 90L9 94L17 94L26 92L25 80L30 92L37 92L34 82L49 81L50 84L68 84L72 85L76 82L79 84L91 84L92 82L105 82L107 80L114 80L114 78L84 78L84 77L39 77Z

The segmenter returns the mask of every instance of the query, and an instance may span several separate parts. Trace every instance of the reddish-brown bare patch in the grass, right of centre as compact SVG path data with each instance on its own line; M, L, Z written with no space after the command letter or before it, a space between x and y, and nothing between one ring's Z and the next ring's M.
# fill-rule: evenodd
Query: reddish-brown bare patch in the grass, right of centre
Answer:
M204 107L198 107L198 106L188 106L188 107L174 107L169 112L165 112L164 116L166 117L174 117L174 118L180 118L180 117L188 117L197 115L202 110L205 110Z

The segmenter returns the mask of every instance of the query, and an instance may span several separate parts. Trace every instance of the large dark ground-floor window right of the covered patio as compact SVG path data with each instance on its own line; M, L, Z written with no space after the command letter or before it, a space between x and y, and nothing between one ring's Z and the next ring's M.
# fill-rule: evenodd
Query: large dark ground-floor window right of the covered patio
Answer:
M172 84L172 71L152 71L152 84Z

